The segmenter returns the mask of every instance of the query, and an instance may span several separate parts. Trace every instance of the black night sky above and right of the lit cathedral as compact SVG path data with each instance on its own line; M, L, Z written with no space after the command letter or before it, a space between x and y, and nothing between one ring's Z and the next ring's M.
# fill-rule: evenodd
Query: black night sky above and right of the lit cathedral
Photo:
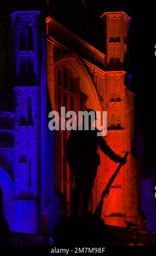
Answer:
M10 2L10 1L9 1ZM101 47L99 15L104 11L124 10L130 22L130 73L132 92L139 109L139 130L145 136L145 160L155 161L155 86L156 86L156 15L152 0L49 0L51 15L96 47ZM5 2L6 3L6 2ZM43 10L47 1L11 1L15 9ZM13 10L11 7L10 12Z

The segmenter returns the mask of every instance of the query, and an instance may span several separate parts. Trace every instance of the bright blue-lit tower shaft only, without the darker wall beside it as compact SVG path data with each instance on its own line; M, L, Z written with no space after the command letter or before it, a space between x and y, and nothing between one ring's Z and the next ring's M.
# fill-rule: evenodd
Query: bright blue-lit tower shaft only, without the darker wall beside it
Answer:
M15 93L15 231L36 233L39 197L39 33L38 11L11 16Z

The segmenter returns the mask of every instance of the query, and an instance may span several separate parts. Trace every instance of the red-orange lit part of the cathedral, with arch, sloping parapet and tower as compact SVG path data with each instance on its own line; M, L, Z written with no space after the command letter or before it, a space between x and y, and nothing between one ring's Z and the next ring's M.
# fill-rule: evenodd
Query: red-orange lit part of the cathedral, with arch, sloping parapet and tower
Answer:
M131 151L134 136L134 97L126 70L130 18L124 12L104 13L103 52L97 50L52 17L47 17L47 84L53 110L108 111L105 139L116 154ZM60 215L72 214L73 177L64 149L69 131L55 131L55 189L61 199ZM101 155L90 210L93 212L101 193L117 165ZM121 168L104 199L102 217L106 224L127 227L127 222L142 228L140 209L140 166L132 154Z

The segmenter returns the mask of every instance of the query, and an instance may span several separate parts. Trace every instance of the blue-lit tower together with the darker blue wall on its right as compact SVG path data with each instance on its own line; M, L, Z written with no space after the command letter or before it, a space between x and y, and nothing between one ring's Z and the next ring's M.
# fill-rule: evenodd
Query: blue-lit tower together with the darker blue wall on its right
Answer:
M15 188L11 229L43 234L51 232L57 223L53 133L47 126L46 38L40 29L39 11L16 11L11 20L15 93Z

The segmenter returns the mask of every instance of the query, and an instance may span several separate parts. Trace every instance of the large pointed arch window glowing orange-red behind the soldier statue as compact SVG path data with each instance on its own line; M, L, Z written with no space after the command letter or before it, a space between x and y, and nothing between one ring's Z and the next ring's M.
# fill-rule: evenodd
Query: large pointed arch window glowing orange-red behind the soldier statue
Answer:
M82 62L82 60L74 53L70 53L70 54L66 54L62 57L60 57L56 62L55 62L55 95L57 95L58 93L58 89L59 92L61 92L61 96L58 97L58 95L55 97L56 100L56 105L58 106L65 106L66 105L66 101L64 100L64 95L67 95L67 99L68 99L68 106L71 106L71 83L66 84L66 81L69 82L70 80L70 76L73 77L74 80L77 80L78 78L78 87L76 89L76 93L74 95L74 102L76 102L76 106L79 106L78 110L84 110L84 108L82 109L81 104L79 104L79 100L80 100L80 96L79 95L79 89L80 92L82 92L83 94L85 94L85 99L87 99L85 101L84 99L84 106L88 107L88 108L92 108L95 111L102 111L102 107L101 107L101 103L99 100L99 96L95 87L95 84L92 80L92 77L90 76L88 70L86 69L84 63ZM60 72L58 72L60 70ZM67 70L67 74L68 74L68 79L66 77L64 77L64 70ZM68 73L70 72L70 73ZM60 76L61 73L61 76ZM58 77L57 77L58 76ZM66 75L65 75L66 76ZM60 81L60 82L59 82ZM77 86L77 84L76 84ZM70 91L70 93L69 93ZM78 93L77 93L78 92ZM77 96L77 97L76 97ZM86 97L87 96L87 97ZM79 99L78 99L79 97ZM61 100L60 100L61 98ZM59 100L58 100L59 99ZM60 104L57 104L60 101ZM64 105L65 102L65 105ZM76 109L77 110L77 109ZM58 111L60 112L60 109L58 108ZM72 193L73 193L73 184L74 184L74 180L73 178L71 178L70 175L70 169L67 166L66 163L66 159L65 159L65 154L64 154L64 145L66 142L66 139L69 135L69 131L62 131L57 133L57 142L55 143L56 146L56 150L57 150L57 155L54 158L54 162L55 162L55 175L54 175L54 179L55 179L55 184L57 184L57 186L59 187L60 191L63 192L63 195L65 196L66 201L63 202L63 200L61 201L61 204L63 204L63 206L61 207L61 209L65 209L63 212L61 212L61 215L63 216L70 216L70 214L72 214ZM58 158L61 159L61 161L59 161L58 163ZM95 192L96 194L96 192ZM61 200L61 199L60 199ZM66 203L67 202L67 203ZM91 206L91 211L93 211L93 204Z

